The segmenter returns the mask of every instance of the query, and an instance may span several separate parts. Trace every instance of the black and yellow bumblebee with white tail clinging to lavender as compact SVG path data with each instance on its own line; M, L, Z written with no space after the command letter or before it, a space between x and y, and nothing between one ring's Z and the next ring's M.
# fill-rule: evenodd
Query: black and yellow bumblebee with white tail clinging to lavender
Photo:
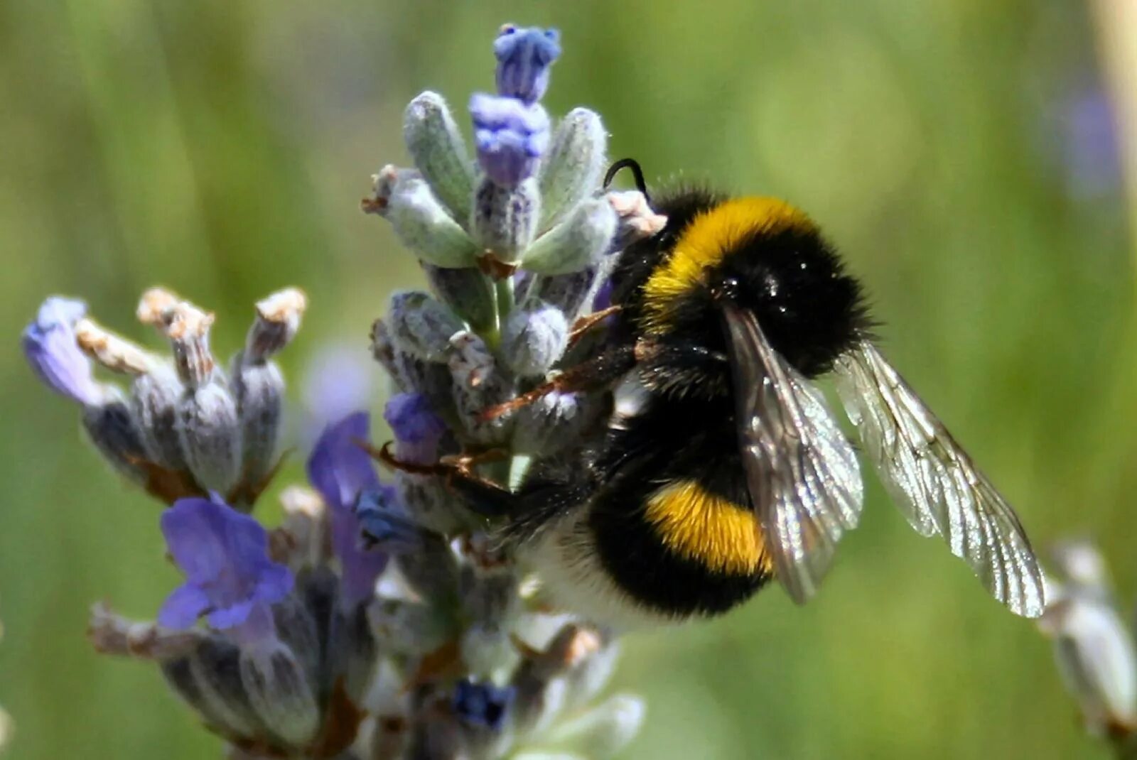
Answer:
M606 184L622 168L647 195L630 159ZM511 404L615 389L630 408L513 492L459 484L506 516L550 602L634 627L725 612L771 579L808 600L863 501L856 451L814 386L832 375L912 527L1011 611L1040 615L1018 517L875 346L862 286L818 226L780 200L702 189L652 206L666 226L619 254L599 352Z

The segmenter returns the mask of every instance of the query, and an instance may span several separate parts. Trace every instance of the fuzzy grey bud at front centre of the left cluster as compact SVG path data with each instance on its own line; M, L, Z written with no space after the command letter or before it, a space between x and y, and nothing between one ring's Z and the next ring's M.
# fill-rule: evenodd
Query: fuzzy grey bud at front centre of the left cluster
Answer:
M190 471L202 488L225 494L236 485L243 453L241 427L236 402L219 378L182 399L177 434Z

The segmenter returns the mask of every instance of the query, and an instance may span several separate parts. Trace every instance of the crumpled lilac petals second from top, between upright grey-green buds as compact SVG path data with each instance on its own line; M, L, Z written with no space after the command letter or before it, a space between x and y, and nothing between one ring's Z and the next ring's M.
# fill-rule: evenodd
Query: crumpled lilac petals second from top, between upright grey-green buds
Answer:
M516 187L533 175L549 145L549 116L543 108L478 93L470 99L470 115L478 161L495 184Z

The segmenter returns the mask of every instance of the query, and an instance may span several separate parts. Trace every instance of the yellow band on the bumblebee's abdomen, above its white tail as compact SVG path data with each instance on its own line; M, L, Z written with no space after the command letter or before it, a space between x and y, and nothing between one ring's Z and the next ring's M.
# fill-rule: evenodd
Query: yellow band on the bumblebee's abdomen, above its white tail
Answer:
M645 513L664 545L712 570L749 575L771 569L754 512L694 481L656 491Z

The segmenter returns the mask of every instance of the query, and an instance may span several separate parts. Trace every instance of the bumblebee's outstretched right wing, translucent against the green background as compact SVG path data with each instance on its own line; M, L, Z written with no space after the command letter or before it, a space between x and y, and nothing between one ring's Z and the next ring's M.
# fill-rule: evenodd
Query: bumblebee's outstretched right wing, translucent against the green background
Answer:
M1010 610L1038 617L1046 585L1011 506L877 346L837 362L838 392L889 494L921 535L940 534Z

